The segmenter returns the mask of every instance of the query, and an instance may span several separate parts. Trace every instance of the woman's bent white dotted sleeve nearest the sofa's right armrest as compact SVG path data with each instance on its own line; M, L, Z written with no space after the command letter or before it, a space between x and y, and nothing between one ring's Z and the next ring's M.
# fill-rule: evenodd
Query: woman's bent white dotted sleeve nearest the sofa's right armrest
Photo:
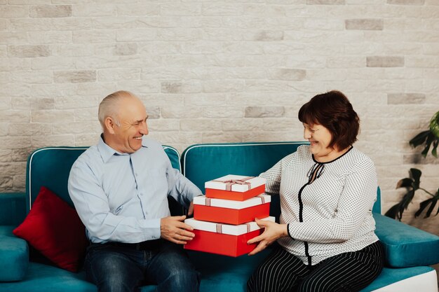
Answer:
M350 239L372 216L377 198L377 174L372 160L361 160L347 175L337 211L333 218L310 222L289 222L293 239L306 242L334 243Z

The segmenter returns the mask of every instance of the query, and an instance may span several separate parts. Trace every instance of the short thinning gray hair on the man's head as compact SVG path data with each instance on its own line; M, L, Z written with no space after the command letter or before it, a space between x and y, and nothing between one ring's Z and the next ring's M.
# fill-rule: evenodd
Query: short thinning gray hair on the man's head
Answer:
M114 123L118 127L121 125L118 115L119 102L127 97L135 97L135 95L129 91L120 90L102 99L102 102L99 104L99 111L97 112L97 118L102 126L102 130L105 129L105 119L107 117L113 118Z

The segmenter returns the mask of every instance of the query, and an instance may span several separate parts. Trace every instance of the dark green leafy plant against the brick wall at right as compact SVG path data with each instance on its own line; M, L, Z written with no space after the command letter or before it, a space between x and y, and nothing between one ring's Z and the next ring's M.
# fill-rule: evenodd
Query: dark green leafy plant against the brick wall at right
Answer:
M409 141L409 144L412 147L417 147L419 145L424 144L424 150L421 152L421 155L426 157L428 151L431 146L431 155L435 158L438 158L438 144L439 144L439 111L433 115L430 121L430 129L424 132L420 132L413 139ZM422 172L419 169L411 168L409 171L410 177L405 179L401 179L396 184L396 188L406 188L407 193L403 195L403 198L397 204L394 204L388 211L386 211L386 216L391 218L396 218L399 221L403 217L404 211L409 206L410 202L412 202L415 193L418 190L422 190L424 193L430 195L430 197L419 203L419 209L414 214L415 217L422 214L424 210L426 213L424 218L428 218L431 216L433 211L435 211L434 216L439 213L439 188L436 190L436 193L428 192L428 190L421 188L421 174Z

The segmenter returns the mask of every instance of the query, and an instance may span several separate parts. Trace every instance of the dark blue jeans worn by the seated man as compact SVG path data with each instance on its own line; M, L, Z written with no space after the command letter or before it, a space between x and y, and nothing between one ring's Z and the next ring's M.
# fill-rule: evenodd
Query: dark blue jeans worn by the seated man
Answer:
M159 292L194 292L200 286L200 274L182 246L167 240L154 250L92 244L84 267L100 292L140 291L143 284L156 284Z

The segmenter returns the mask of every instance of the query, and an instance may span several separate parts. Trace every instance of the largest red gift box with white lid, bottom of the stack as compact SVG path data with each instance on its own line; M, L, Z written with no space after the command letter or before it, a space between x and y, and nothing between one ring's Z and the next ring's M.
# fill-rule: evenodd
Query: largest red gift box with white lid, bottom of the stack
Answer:
M274 221L274 217L262 220ZM191 232L195 234L194 239L184 244L184 249L217 253L223 256L236 257L250 253L256 248L257 243L247 244L248 240L263 232L254 221L241 225L228 225L189 218L184 223L191 225L194 228Z

